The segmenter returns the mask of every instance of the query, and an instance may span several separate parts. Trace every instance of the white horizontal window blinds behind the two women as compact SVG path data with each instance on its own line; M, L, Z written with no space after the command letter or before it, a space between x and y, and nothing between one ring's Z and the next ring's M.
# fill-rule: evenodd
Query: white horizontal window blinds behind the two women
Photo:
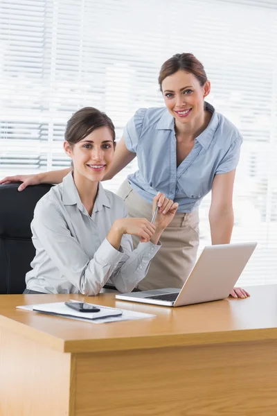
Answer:
M208 101L244 136L233 241L259 245L240 284L277 282L275 0L0 0L0 176L69 166L64 126L85 105L107 112L120 138L137 108L163 105L159 68L183 51L202 60Z

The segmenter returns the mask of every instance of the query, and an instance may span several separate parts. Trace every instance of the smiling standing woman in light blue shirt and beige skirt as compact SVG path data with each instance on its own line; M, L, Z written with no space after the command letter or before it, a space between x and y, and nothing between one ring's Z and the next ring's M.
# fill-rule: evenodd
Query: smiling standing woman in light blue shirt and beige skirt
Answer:
M209 221L213 244L226 244L233 230L233 184L242 137L238 129L205 101L211 83L191 53L177 53L164 62L159 85L166 107L139 109L116 146L111 179L134 157L139 170L129 175L118 194L129 216L150 219L157 191L179 203L174 220L163 232L162 247L139 289L180 288L193 268L199 245L198 207L212 191ZM68 170L6 177L0 183L57 183ZM139 239L134 237L134 245ZM222 276L224 279L224 276ZM236 288L231 295L247 297Z

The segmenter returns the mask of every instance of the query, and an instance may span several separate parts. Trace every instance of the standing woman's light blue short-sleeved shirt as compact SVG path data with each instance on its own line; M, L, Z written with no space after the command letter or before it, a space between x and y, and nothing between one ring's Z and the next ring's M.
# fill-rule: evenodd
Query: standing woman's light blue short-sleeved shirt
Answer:
M211 104L205 102L205 108L213 114L211 121L178 167L175 119L166 107L141 108L127 123L123 137L139 165L128 180L146 201L152 203L161 191L179 203L179 212L192 212L211 191L215 175L237 167L240 132Z

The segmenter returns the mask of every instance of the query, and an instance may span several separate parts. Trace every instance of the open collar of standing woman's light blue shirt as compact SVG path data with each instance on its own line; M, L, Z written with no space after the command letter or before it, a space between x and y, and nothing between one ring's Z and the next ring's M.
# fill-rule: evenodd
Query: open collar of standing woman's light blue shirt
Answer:
M211 144L211 141L213 140L213 137L215 135L215 130L217 129L218 116L213 105L211 105L210 103L207 103L207 101L204 101L204 107L205 107L205 110L208 110L213 115L210 120L210 123L208 123L204 132L202 132L201 135L196 137L195 140L197 140L199 144L201 144L201 146L204 147L205 150L207 150ZM157 130L175 131L174 117L170 114L170 112L168 112L167 108L165 108L165 112L163 112L161 119L159 119L159 123L157 123L156 128Z

